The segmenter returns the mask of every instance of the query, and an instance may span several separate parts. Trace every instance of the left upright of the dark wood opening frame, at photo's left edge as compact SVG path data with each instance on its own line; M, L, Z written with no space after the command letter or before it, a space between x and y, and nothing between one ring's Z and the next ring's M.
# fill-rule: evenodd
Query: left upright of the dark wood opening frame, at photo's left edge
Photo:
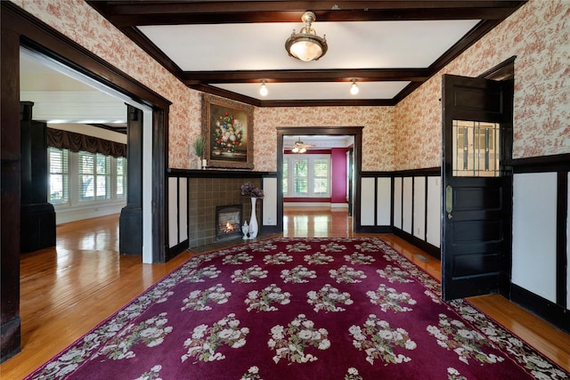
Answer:
M0 362L20 352L20 36L4 28L0 39Z

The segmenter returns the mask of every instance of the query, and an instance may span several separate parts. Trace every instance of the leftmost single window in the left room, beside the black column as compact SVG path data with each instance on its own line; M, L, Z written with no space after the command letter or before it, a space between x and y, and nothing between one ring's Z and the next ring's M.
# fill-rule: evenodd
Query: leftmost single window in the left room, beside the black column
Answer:
M50 203L53 205L67 204L69 203L69 151L50 148L48 159Z

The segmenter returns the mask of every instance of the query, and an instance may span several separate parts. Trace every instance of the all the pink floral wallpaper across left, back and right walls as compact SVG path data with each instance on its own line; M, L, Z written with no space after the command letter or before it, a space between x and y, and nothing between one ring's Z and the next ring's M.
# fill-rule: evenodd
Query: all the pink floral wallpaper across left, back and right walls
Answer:
M83 0L12 0L172 101L168 166L189 168L201 97ZM476 77L516 55L514 158L570 152L570 1L530 0L395 107L257 108L254 165L276 170L276 126L362 125L362 169L440 166L441 76Z

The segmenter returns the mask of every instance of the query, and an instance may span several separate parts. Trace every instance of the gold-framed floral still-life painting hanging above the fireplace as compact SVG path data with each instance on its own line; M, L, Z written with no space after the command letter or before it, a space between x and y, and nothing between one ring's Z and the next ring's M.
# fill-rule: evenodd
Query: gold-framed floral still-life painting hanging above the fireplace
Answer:
M253 106L203 94L208 167L253 169Z

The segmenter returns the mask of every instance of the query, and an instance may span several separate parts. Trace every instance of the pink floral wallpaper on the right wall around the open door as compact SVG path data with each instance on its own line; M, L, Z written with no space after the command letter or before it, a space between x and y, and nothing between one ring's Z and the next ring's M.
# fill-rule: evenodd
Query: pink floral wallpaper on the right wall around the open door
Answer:
M395 107L395 169L440 166L441 77L515 61L513 158L570 153L570 1L530 0Z

